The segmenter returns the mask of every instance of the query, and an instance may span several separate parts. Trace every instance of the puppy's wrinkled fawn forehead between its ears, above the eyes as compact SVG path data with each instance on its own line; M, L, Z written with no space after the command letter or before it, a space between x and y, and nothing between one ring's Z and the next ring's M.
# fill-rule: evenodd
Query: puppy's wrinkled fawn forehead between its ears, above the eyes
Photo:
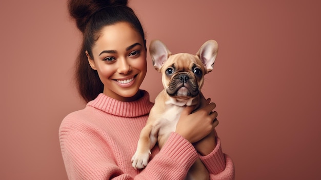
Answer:
M173 67L177 71L187 71L195 66L203 70L202 62L195 56L189 53L178 53L171 55L165 62L166 67Z

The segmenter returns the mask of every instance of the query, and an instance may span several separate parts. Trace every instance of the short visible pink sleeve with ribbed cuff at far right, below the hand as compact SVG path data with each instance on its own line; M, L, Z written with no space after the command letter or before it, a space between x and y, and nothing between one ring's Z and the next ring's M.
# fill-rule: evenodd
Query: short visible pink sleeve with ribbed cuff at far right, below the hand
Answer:
M223 153L220 139L217 136L215 149L206 156L199 155L199 158L208 169L210 179L234 179L234 164L232 159Z

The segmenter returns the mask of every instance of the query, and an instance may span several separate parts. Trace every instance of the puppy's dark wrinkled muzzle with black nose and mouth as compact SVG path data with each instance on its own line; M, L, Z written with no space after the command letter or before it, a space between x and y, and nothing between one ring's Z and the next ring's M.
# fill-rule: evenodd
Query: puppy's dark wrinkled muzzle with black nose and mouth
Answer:
M199 94L197 82L188 75L177 75L167 88L167 94L179 97L195 97Z

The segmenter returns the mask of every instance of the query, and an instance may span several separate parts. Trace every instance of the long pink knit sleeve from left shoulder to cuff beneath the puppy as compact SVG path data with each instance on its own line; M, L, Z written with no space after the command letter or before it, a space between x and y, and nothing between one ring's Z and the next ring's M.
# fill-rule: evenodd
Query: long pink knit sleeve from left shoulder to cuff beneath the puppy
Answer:
M59 130L61 150L70 180L184 179L198 157L194 147L185 138L172 133L162 150L144 170L139 174L126 173L115 162L115 155L101 133L88 126L63 126ZM134 171L133 168L130 171Z

